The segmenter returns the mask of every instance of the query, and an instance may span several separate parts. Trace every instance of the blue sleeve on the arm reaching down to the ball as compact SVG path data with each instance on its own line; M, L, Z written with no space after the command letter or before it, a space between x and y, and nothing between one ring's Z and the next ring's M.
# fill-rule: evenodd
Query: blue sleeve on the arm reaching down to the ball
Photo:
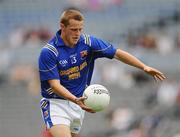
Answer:
M48 48L43 48L39 56L40 80L59 79L57 57Z

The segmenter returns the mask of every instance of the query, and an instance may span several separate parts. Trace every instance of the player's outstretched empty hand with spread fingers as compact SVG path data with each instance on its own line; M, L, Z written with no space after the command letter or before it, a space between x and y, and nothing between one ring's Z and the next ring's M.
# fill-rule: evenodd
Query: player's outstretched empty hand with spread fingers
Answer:
M147 74L153 76L156 81L159 81L159 80L163 81L164 79L166 79L165 75L162 72L160 72L159 70L154 69L152 67L145 66L144 71Z

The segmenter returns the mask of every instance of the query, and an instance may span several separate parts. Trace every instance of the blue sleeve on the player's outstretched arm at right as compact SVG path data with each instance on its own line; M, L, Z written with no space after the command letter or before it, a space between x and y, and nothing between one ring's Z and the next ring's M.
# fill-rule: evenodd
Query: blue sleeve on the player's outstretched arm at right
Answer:
M107 57L112 59L116 52L114 46L104 40L95 38L93 36L90 37L92 51L95 53L97 58Z

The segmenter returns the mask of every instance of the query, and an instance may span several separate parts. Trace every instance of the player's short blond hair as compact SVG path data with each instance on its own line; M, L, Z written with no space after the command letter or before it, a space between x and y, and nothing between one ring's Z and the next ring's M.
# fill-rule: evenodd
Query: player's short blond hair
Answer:
M83 21L84 16L80 11L78 11L76 9L67 9L62 13L62 15L60 17L60 23L67 26L67 25L69 25L69 20L70 19Z

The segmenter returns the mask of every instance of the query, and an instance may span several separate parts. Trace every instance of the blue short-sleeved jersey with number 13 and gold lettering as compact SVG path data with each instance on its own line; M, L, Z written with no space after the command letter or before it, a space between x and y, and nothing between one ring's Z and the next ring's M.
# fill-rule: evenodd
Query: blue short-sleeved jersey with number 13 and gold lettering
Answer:
M75 47L65 45L61 31L44 46L39 57L41 94L45 98L59 98L48 84L48 80L58 79L76 97L81 97L90 84L94 61L97 58L112 59L116 49L103 40L82 34Z

